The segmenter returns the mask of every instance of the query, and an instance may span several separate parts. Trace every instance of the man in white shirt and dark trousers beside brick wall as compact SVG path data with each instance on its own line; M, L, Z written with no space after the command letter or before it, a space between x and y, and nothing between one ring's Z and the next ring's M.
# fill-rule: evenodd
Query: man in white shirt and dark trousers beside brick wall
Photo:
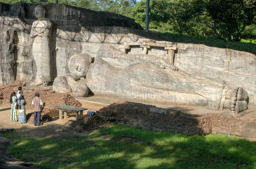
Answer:
M34 105L34 125L41 125L41 112L43 110L43 102L39 98L39 92L35 92L35 98L32 100L32 104Z

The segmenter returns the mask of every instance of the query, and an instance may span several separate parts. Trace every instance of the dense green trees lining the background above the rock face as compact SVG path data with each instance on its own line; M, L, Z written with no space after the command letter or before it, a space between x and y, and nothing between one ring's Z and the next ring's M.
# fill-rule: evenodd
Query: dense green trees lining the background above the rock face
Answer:
M145 1L58 0L59 4L132 17L145 26ZM4 3L55 3L55 0L0 0ZM150 29L240 42L256 39L256 0L150 0Z

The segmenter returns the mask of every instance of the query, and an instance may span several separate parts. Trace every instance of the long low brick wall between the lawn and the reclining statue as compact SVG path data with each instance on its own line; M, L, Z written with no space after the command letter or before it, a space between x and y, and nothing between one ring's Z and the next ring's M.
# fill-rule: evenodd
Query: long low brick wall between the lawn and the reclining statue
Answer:
M247 120L218 113L185 114L180 111L158 108L134 102L111 104L84 118L89 125L121 122L145 130L163 130L183 134L209 134L222 132L239 135Z

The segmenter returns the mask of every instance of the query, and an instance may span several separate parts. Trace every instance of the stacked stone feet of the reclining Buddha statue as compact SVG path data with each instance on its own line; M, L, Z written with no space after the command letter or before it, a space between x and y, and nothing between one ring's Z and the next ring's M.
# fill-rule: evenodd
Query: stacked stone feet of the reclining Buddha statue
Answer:
M239 113L247 110L248 93L241 87L235 87L234 91L230 93L230 110L231 113Z

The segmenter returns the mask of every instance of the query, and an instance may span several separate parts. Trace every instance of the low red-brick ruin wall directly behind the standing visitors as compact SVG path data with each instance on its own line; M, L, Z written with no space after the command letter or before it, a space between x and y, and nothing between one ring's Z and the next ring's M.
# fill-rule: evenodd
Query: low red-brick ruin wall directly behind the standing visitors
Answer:
M9 96L12 92L16 92L18 90L19 85L3 85L0 86L0 97L3 99L0 100L0 104L8 105ZM70 96L68 93L55 93L53 90L44 89L40 87L22 87L23 95L26 100L26 110L33 110L34 107L31 104L32 99L35 97L35 92L40 93L40 98L44 102L44 110L41 114L42 120L51 119L52 117L59 115L58 108L55 106L59 106L62 104L67 104L70 106L81 107L81 103L77 101L73 96ZM34 112L26 112L28 122L33 123L34 121Z

